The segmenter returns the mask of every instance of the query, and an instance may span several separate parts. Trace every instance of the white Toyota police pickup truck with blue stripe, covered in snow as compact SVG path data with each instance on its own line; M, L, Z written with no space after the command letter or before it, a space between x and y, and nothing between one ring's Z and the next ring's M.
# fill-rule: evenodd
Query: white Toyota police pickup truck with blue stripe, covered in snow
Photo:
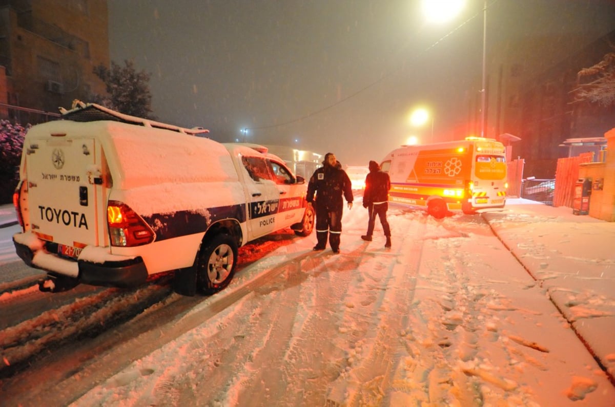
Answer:
M93 103L25 136L14 204L17 254L47 272L41 291L132 287L175 271L181 294L228 285L237 248L280 229L309 235L307 185L254 144Z

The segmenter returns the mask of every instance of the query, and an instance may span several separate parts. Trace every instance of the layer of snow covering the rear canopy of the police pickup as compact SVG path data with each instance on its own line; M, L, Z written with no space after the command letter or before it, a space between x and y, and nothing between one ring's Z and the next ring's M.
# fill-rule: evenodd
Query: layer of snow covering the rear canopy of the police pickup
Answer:
M85 110L93 111L100 109ZM123 119L74 121L83 119L76 113L67 117L33 126L26 134L26 143L51 138L56 143L60 138L98 140L113 173L114 188L237 181L229 152L217 141L186 132L170 134L172 129L167 127L135 125Z

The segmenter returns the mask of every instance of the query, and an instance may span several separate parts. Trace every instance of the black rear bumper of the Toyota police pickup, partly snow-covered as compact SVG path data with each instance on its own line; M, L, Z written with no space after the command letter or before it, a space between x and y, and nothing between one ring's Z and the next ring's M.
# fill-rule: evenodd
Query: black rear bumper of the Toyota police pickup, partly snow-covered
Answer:
M33 251L28 245L13 239L17 255L30 267L44 270L49 274L62 275L76 280L76 283L131 288L145 283L148 271L140 256L106 260L94 263L85 260L65 259L46 250Z

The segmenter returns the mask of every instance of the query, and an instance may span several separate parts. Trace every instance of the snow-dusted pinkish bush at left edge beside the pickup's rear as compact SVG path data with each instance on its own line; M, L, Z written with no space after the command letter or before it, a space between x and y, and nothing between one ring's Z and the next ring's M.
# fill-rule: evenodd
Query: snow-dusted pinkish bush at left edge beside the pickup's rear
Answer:
M22 157L23 137L28 124L11 124L0 120L0 204L9 204L19 181L19 162Z

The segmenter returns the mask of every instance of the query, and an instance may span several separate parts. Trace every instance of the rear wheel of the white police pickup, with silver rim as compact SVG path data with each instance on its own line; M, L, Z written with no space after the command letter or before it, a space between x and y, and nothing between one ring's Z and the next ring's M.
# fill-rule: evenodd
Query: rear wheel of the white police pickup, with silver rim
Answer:
M237 243L228 234L205 240L197 255L197 289L213 294L229 285L237 263Z

